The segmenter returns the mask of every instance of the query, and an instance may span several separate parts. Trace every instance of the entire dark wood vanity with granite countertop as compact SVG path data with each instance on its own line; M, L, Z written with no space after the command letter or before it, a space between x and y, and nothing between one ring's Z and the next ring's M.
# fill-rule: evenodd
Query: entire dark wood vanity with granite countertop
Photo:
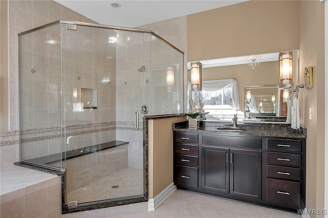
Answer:
M174 127L174 184L288 211L303 209L306 134L268 126L240 132Z

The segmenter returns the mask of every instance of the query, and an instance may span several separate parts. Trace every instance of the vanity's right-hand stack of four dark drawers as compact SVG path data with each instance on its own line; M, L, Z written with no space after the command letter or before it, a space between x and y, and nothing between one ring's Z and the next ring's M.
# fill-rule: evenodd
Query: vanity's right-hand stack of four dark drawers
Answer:
M301 140L267 139L267 202L292 208L304 205L304 154Z

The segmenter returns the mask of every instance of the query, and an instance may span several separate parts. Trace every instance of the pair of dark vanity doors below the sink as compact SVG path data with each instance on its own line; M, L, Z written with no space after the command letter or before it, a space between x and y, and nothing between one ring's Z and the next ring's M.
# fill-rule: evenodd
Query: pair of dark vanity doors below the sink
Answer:
M202 189L261 199L261 151L202 146L201 160Z

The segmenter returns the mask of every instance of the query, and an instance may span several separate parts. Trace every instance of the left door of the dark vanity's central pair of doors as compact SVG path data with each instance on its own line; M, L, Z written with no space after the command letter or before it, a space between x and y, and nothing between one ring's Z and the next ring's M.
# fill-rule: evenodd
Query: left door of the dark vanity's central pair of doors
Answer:
M229 193L229 148L201 147L201 188Z

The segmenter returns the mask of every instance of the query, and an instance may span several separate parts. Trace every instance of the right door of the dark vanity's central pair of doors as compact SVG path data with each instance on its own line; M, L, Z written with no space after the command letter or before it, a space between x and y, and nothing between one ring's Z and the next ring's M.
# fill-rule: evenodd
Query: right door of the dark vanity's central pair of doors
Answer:
M230 149L230 194L261 200L261 151Z

